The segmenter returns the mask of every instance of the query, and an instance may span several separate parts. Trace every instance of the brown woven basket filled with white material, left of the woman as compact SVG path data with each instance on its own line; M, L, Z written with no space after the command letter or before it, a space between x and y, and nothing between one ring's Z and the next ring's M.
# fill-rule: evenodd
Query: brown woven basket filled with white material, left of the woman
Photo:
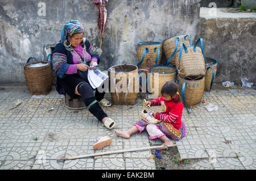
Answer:
M31 57L32 58L32 57ZM35 58L34 58L35 59ZM36 60L36 59L35 59ZM47 61L34 61L24 65L24 75L26 78L27 88L31 95L47 95L52 89L52 72L51 64ZM31 64L48 64L38 68L28 68Z

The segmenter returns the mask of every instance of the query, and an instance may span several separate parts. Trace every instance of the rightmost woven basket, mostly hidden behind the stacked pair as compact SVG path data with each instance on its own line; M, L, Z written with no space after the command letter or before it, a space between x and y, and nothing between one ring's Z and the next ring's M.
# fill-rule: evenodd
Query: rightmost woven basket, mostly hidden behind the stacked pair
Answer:
M210 91L212 89L212 85L217 73L217 65L218 62L214 58L205 57L207 64L205 64L206 72L205 72L205 91Z

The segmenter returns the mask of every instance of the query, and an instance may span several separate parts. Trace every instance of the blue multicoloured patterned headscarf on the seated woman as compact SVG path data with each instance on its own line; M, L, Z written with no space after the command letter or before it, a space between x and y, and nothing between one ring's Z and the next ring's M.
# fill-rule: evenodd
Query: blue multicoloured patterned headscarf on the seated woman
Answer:
M78 20L69 20L69 22L66 22L62 28L60 43L63 43L65 40L67 40L68 35L72 36L75 33L82 32L84 32L84 28Z

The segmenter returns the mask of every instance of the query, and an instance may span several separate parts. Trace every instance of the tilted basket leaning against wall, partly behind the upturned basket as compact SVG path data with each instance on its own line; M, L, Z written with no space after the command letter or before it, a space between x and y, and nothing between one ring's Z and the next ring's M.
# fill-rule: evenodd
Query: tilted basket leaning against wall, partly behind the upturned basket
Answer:
M180 44L183 43L186 46L192 46L191 37L185 34L180 34L176 36L169 37L166 40L163 40L163 51L167 58L166 65L170 64L175 65L175 54L177 50L180 49Z

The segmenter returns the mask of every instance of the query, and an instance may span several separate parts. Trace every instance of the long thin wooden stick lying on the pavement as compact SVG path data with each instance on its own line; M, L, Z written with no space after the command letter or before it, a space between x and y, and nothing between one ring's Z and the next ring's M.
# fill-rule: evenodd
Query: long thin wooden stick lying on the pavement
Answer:
M57 158L57 161L63 161L68 159L78 159L78 158L86 158L86 157L96 157L100 155L105 154L117 154L117 153L124 153L124 152L130 152L130 151L142 151L142 150L149 150L149 149L157 149L157 148L168 148L168 147L174 147L174 145L160 145L160 146L149 146L145 148L133 148L133 149L126 149L126 150L116 150L116 151L108 151L104 153L94 153L94 154L87 154L87 155L79 155L76 157L67 157L67 158Z

